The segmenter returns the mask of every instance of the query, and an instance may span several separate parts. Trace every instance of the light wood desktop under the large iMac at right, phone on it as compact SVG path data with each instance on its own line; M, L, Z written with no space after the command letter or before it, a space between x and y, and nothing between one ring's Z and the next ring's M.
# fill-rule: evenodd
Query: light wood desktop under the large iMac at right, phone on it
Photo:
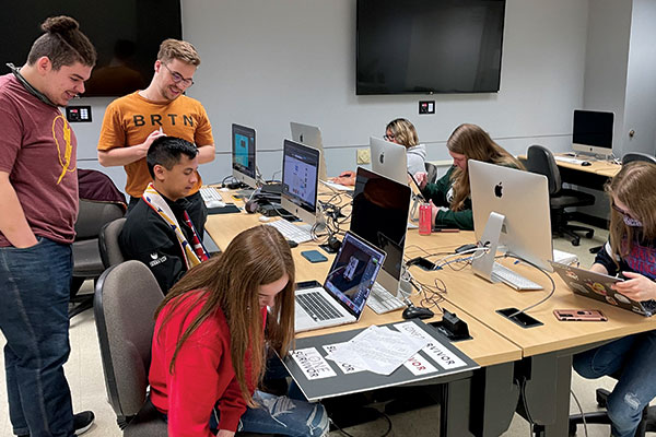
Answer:
M419 256L422 249L430 252L453 250L455 247L473 243L473 240L475 236L471 232L433 234L431 236L420 236L412 233L408 235L408 247L410 249L414 247L414 249L412 251L407 250L407 255L411 257ZM420 246L421 249L419 249ZM508 259L504 263L511 267L512 261ZM412 267L410 271L421 282L432 282L435 277L444 281L447 286L446 299L452 305L519 346L523 356L566 350L656 329L656 317L645 318L611 305L604 305L575 295L555 274L551 275L555 282L554 295L528 311L530 316L543 324L535 328L522 328L497 315L495 310L508 307L522 309L539 302L551 291L551 282L542 272L527 264L512 265L512 268L542 285L544 290L518 292L503 283L492 284L475 275L471 267L466 267L460 271L446 268L432 272ZM557 320L552 314L554 309L571 308L600 309L608 316L608 321L566 322Z

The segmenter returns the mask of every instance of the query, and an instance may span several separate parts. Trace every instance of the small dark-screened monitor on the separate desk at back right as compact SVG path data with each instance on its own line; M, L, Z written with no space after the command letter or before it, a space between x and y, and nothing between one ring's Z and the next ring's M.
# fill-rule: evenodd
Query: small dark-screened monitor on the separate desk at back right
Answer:
M572 150L584 154L612 154L613 113L574 110Z

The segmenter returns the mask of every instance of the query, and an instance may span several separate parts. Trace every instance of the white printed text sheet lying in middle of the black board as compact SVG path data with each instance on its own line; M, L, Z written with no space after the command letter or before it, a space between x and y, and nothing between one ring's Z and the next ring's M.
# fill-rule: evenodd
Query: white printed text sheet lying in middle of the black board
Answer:
M326 358L390 375L427 344L386 327L372 326L338 347Z

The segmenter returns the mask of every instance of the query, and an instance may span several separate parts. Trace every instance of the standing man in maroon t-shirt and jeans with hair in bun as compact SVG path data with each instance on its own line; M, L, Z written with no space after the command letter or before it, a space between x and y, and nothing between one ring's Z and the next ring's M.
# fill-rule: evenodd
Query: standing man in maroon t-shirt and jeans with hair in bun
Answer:
M71 17L42 28L27 63L0 76L0 330L13 433L71 437L93 413L73 417L63 375L78 175L59 107L84 92L96 52Z

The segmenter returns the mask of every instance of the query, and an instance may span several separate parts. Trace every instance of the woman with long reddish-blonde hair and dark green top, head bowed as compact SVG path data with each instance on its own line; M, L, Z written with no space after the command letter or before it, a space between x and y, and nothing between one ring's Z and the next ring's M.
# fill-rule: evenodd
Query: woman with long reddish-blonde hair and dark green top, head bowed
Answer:
M423 196L431 200L434 226L471 231L473 215L467 162L477 160L522 169L524 166L477 125L458 126L446 146L454 160L446 175L435 184L426 184L426 174L423 172L415 174L415 179Z

